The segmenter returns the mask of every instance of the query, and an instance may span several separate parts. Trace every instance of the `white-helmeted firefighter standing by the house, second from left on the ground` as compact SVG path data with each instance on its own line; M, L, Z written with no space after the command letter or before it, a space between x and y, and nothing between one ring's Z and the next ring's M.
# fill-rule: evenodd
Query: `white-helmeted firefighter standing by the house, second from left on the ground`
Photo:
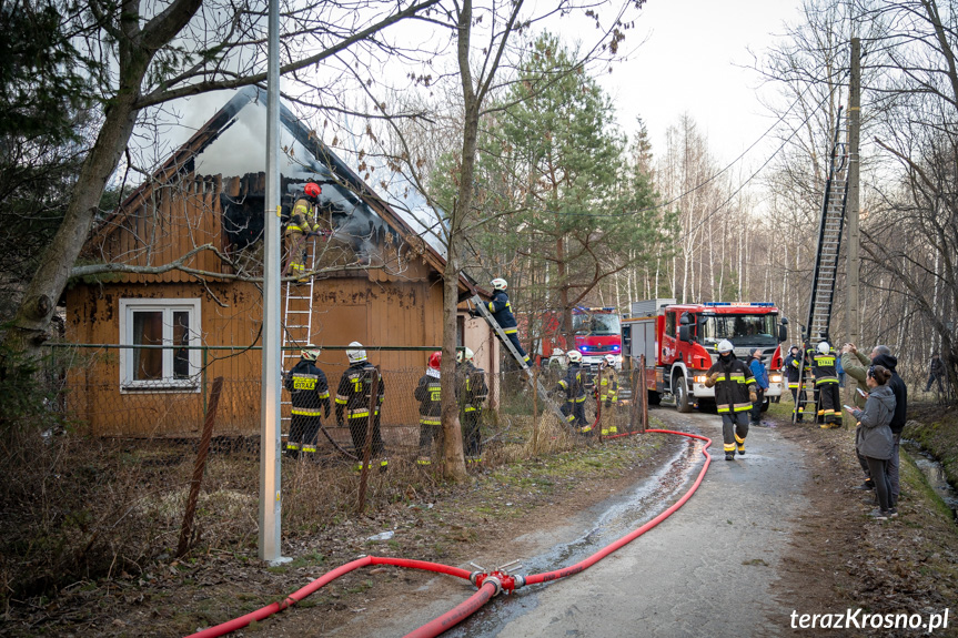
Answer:
M372 454L370 458L383 457L385 445L380 432L380 409L385 398L385 384L380 376L376 408L373 418L370 418L370 399L372 398L372 374L376 368L366 359L366 351L363 344L354 341L346 351L350 367L340 377L340 387L336 389L336 424L344 427L349 421L350 436L353 439L353 449L359 457L359 469L362 469L363 454L366 445L366 428L370 421L373 422ZM345 419L343 415L345 413ZM385 469L389 462L380 460L380 469Z

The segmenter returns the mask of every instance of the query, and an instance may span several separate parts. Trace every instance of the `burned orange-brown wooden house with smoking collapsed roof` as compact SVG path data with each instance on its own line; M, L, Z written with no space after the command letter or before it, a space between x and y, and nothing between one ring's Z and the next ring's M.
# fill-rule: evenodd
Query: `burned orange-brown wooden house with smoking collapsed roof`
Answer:
M265 174L249 166L264 166L265 154L230 165L256 120L265 122L264 93L238 92L89 237L81 259L117 266L65 293L67 341L101 344L77 350L68 373L69 408L91 434L195 435L218 376L218 431L258 432ZM320 223L330 231L312 240L312 285L283 284L281 308L311 291L309 337L290 345L359 341L384 374L421 374L428 353L401 348L442 342L442 245L412 206L376 193L285 108L281 128L284 203L307 181L320 183ZM262 146L256 141L250 146ZM462 302L476 287L463 276L458 291ZM496 369L495 340L465 312L460 342ZM324 350L319 365L335 388L345 354ZM384 425L414 421L407 411L387 402Z

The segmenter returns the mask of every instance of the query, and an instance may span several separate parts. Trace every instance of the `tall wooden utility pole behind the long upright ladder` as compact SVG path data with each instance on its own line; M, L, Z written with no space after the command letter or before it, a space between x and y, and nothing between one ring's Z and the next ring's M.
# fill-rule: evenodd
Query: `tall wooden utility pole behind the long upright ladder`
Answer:
M846 200L846 214L848 223L848 295L847 295L847 326L848 341L855 345L858 343L858 273L860 262L858 259L858 128L860 123L861 107L861 41L851 38L851 77L848 87L848 192Z

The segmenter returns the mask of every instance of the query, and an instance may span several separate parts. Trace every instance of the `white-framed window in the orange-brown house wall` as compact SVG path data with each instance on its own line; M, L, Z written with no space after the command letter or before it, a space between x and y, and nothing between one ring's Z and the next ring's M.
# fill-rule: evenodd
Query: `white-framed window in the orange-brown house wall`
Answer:
M120 392L200 392L200 300L120 300Z

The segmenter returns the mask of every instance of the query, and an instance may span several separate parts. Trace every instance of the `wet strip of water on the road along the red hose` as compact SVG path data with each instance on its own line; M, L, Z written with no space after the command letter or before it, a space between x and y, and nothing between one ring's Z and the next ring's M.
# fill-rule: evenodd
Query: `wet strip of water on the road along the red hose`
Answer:
M521 574L526 576L542 574L575 565L648 523L678 500L705 462L702 454L705 443L698 439L686 440L688 443L680 445L662 469L639 483L632 492L613 497L593 508L601 513L585 534L569 543L557 545L542 555L523 558L524 568ZM642 537L634 543L642 543ZM493 568L488 565L483 567ZM555 583L565 580L568 578L562 578ZM487 604L444 636L451 638L497 636L511 619L528 612L538 605L537 593L544 586L551 587L554 584L532 585L518 589L511 596L500 595L497 600Z

